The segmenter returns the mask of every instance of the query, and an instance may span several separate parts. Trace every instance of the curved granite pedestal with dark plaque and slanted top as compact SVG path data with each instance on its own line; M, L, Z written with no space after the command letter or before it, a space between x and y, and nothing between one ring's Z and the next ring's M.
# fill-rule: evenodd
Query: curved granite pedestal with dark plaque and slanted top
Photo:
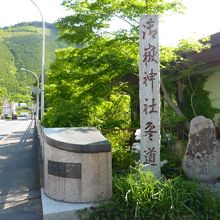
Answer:
M97 129L46 128L44 139L48 197L73 203L111 198L111 146Z

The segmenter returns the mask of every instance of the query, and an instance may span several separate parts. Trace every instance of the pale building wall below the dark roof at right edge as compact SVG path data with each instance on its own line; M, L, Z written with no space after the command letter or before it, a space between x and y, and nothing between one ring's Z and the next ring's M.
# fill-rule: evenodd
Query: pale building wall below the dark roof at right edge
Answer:
M210 92L209 97L212 102L212 106L220 109L220 71L210 74L208 80L205 83L205 90ZM215 124L220 121L220 114L216 114L214 121Z

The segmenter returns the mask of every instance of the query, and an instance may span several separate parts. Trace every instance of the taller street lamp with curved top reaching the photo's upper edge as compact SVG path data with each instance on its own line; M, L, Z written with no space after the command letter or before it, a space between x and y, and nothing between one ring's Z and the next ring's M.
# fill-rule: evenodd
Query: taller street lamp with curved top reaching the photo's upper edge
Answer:
M41 13L40 8L37 6L37 4L33 1L30 0L34 6L37 8L37 10L40 13L41 19L42 19L42 72L41 72L41 119L44 116L44 68L45 68L45 22L44 22L44 17L43 14Z

